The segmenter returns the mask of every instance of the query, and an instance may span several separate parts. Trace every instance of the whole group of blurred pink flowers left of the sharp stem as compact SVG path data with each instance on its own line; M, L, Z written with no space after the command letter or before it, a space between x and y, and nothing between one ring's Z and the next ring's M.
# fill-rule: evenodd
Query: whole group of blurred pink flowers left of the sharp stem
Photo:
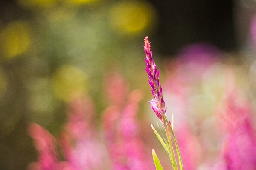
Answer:
M29 126L38 161L28 170L154 170L137 119L142 91L128 94L128 83L117 73L105 77L111 105L102 113L104 136L97 133L93 102L84 94L68 104L68 122L57 139L36 123ZM57 144L65 161L59 161Z

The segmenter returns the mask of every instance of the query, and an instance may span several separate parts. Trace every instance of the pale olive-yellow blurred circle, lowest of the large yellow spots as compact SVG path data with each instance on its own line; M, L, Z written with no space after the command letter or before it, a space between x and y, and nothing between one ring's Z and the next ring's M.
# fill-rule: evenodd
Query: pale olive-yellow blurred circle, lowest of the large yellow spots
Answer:
M72 65L62 65L52 76L52 87L58 98L72 102L85 91L86 75Z

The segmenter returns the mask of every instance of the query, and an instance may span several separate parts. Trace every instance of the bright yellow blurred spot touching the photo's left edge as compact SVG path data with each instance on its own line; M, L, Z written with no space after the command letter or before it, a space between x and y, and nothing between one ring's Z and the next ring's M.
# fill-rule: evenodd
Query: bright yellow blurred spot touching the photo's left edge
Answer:
M29 26L23 21L13 21L0 32L1 52L6 58L24 53L30 45Z

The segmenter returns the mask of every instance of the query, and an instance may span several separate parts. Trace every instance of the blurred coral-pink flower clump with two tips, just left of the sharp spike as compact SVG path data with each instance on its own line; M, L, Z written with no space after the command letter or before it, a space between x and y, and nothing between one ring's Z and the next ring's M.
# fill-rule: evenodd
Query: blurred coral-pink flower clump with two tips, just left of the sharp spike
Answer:
M102 114L111 169L153 170L151 159L147 157L144 144L140 139L137 120L138 102L142 99L141 91L134 90L127 96L127 83L121 75L113 73L108 74L106 78L112 80L106 81L108 83L105 85L106 90L113 93L112 89L115 89L115 94L106 96L112 105Z

